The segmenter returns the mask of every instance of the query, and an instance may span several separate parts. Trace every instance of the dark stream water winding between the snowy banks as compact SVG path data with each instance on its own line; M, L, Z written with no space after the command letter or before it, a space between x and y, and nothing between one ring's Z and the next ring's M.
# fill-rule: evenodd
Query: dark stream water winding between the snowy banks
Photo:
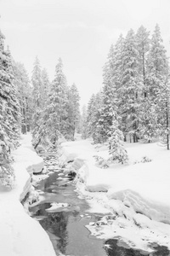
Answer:
M57 169L54 158L46 159L48 169ZM31 207L33 218L37 218L44 230L47 231L53 243L56 255L63 253L70 256L167 256L170 255L167 247L156 248L155 253L144 253L133 250L124 245L117 245L118 240L100 240L91 236L85 225L98 221L102 214L88 213L88 203L80 199L75 191L72 178L68 177L64 170L55 170L48 178L40 181L37 190L43 191L44 200L36 207ZM63 203L63 205L48 212L51 203Z

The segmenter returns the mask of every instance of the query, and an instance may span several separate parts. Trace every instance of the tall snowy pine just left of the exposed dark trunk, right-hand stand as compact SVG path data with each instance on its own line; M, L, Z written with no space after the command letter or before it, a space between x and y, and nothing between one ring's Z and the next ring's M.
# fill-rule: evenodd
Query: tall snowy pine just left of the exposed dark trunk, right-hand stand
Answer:
M118 88L120 97L120 114L122 116L122 131L125 135L132 134L133 142L138 141L139 133L139 94L141 78L139 76L139 53L133 30L127 32L122 52L121 86Z

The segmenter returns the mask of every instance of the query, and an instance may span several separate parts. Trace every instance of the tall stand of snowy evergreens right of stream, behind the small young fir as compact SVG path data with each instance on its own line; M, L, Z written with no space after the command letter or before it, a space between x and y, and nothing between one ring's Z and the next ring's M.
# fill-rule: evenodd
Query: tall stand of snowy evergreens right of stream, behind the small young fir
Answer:
M123 140L152 142L169 149L169 62L160 27L150 32L130 29L111 44L103 67L103 88L83 109L83 137L94 143L111 140L114 125Z

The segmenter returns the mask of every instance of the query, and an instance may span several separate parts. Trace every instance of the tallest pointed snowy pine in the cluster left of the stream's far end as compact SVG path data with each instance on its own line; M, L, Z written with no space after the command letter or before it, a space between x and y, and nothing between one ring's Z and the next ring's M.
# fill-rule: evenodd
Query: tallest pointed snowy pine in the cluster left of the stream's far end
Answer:
M55 67L55 77L49 90L46 108L42 118L42 132L39 140L42 139L57 146L59 135L65 136L66 127L66 102L67 86L65 74L63 73L63 63L59 58Z

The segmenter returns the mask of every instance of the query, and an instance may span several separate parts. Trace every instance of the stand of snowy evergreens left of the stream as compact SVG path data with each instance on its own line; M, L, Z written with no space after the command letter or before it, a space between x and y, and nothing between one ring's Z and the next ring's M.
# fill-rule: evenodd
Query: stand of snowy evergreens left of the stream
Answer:
M11 186L10 151L19 146L20 132L31 131L35 148L39 143L56 148L60 137L74 140L80 96L76 84L67 84L60 58L52 82L38 58L29 79L24 64L14 61L4 40L0 31L0 181Z

